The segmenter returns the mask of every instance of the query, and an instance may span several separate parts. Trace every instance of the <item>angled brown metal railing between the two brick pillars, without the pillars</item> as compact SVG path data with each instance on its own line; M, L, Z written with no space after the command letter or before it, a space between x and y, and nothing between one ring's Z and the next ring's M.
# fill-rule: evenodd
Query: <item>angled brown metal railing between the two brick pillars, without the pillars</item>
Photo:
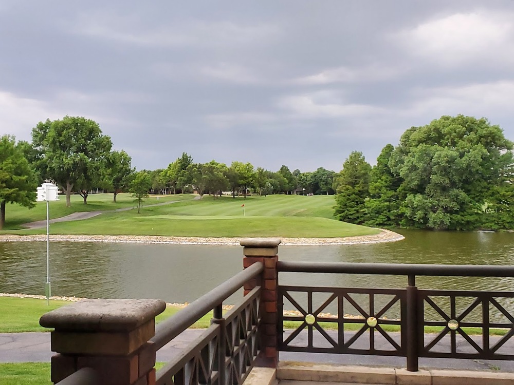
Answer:
M261 286L256 286L225 315L223 301L259 276L263 268L261 262L251 265L157 324L155 336L150 340L156 351L205 314L214 312L211 326L156 372L157 384L243 383L259 354Z

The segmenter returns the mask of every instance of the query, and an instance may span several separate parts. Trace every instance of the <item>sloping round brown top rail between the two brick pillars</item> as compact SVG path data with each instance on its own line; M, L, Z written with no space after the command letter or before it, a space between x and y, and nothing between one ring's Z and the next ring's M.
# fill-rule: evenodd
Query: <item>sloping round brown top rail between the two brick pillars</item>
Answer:
M247 281L261 274L263 269L264 265L262 262L252 264L194 302L191 302L185 309L157 324L155 336L150 340L155 343L155 349L162 348L215 306L222 304L225 299L234 294Z

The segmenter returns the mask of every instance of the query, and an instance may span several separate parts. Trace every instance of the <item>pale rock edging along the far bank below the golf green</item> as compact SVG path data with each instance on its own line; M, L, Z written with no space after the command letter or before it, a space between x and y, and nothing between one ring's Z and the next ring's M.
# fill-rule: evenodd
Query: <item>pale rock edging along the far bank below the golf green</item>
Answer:
M280 237L278 237L280 238ZM404 239L391 230L380 229L379 234L342 238L281 238L281 246L351 245L396 242ZM245 238L161 237L144 235L50 235L57 242L109 242L109 243L166 243L190 245L239 245ZM0 235L0 242L46 241L46 235Z

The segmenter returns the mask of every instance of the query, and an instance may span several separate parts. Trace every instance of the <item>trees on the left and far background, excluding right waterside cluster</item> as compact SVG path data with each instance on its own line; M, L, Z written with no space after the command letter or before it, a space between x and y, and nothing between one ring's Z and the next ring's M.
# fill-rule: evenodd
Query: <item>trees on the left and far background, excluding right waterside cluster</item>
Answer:
M39 122L32 129L32 142L10 135L0 137L0 229L5 223L6 203L35 205L36 187L43 181L56 183L71 205L71 194L79 194L87 204L95 188L131 192L139 206L149 191L192 192L233 197L251 192L259 195L290 194L300 188L304 194L334 194L334 171L323 167L314 172L290 171L283 165L277 172L255 168L251 163L214 160L195 163L187 153L165 169L140 170L124 150L112 150L111 138L93 120L69 117Z

